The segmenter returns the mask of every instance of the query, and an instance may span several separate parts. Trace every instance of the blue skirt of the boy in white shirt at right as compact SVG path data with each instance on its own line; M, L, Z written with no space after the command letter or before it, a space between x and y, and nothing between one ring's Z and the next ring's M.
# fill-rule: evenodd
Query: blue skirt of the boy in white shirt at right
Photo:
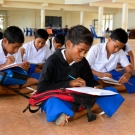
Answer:
M116 71L116 70L112 70L109 72L110 74L112 74L112 78L115 79L115 80L119 80L121 76L123 76L122 73ZM98 80L97 76L94 76L94 79L95 80ZM131 77L128 82L130 82L131 84L129 83L124 83L124 86L126 87L126 90L128 93L133 93L135 92L135 77Z

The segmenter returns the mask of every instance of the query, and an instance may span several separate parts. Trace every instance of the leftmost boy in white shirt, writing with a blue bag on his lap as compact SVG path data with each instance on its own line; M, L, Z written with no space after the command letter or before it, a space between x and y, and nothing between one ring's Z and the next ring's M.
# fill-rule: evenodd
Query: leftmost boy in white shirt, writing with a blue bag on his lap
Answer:
M22 62L19 48L24 42L24 35L20 28L16 26L8 27L3 33L3 39L0 40L0 68L3 68L14 62ZM29 63L24 62L22 68L28 70ZM22 88L37 84L38 80L29 77ZM12 87L16 87L15 85ZM18 87L18 86L17 86ZM2 92L2 91L1 91Z

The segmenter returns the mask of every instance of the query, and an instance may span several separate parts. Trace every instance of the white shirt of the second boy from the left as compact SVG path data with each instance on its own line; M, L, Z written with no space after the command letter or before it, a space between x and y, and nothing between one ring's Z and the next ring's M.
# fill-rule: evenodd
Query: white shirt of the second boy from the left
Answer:
M34 46L34 40L24 44L22 47L25 49L23 60L28 61L30 63L42 64L51 55L50 49L46 44L37 51L37 49Z

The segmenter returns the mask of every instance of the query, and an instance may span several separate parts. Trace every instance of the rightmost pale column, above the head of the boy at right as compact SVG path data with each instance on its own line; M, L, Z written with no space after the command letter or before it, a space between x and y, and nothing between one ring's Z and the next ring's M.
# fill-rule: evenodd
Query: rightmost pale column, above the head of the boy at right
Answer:
M127 31L128 24L128 3L124 3L122 6L122 28Z

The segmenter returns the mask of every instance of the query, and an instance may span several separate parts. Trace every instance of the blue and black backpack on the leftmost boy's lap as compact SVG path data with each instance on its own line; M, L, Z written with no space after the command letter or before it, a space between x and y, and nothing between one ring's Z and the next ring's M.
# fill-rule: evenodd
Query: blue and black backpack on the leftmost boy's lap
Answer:
M1 85L22 85L26 83L28 78L27 72L21 67L13 67L0 71Z

